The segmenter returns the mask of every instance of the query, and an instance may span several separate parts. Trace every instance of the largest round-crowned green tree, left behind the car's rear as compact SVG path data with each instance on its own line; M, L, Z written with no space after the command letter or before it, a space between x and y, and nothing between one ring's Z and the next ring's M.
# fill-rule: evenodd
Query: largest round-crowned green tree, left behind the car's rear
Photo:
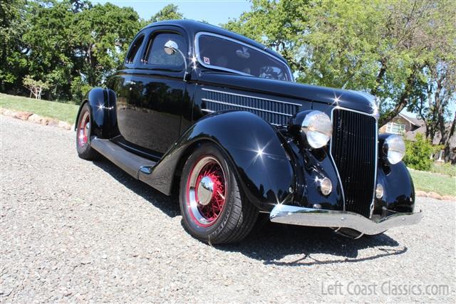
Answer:
M20 43L26 73L51 83L48 98L75 100L121 65L140 29L131 8L89 1L31 1ZM74 83L73 83L74 82Z

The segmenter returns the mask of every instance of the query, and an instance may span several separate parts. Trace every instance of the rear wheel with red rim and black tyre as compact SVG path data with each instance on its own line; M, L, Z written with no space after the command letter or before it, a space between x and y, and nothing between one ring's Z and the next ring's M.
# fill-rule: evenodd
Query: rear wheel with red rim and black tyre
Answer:
M100 154L96 152L93 147L90 147L90 131L91 131L92 117L90 117L90 108L86 103L81 109L78 119L78 127L76 129L76 150L78 156L83 159L98 159Z

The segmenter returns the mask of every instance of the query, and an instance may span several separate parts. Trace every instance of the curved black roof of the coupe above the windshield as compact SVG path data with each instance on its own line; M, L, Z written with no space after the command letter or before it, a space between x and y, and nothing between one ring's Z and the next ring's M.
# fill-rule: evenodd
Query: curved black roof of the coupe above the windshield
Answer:
M276 56L276 57L280 58L282 61L284 61L285 63L287 63L285 58L282 57L279 53L272 51L270 48L267 48L263 44L258 43L257 41L254 41L245 36L239 35L238 33L228 31L219 26L213 26L212 24L209 24L209 23L204 23L204 22L195 21L195 20L187 20L187 19L186 20L167 20L167 21L159 21L159 22L150 23L149 25L145 26L145 28L150 28L152 26L179 26L181 28L184 28L192 36L195 36L195 34L200 31L216 33L218 35L227 36L229 38L236 39L238 41L250 44L256 48L264 50L267 53L270 53L271 55Z

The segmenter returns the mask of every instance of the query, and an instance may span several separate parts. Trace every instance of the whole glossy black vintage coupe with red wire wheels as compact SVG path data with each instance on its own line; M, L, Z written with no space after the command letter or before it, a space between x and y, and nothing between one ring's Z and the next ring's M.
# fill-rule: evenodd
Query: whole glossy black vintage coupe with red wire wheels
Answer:
M240 241L260 213L358 237L422 217L404 142L378 135L377 120L371 95L294 83L260 43L166 21L143 28L123 68L86 95L76 147L178 191L182 222L202 241Z

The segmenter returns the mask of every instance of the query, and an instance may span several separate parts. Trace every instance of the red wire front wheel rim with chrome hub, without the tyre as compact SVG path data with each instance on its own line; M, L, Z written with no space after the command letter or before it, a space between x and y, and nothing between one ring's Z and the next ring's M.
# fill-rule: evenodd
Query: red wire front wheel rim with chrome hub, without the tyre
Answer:
M187 208L198 226L214 225L225 206L227 182L222 165L212 155L201 157L187 181Z

